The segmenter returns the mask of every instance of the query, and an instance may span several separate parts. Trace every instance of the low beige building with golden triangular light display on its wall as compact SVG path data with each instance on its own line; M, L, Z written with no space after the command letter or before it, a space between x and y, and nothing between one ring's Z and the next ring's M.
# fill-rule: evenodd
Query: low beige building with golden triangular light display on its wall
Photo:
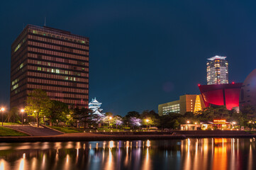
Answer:
M179 113L184 115L186 112L201 111L205 108L203 98L197 94L185 94L179 96L178 101L171 101L158 105L158 114L160 116L169 113Z

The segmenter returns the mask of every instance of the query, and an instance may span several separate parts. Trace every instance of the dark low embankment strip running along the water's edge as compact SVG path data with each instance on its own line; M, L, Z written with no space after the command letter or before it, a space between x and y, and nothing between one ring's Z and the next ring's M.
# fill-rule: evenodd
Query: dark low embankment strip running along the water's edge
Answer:
M0 137L0 142L82 142L104 140L185 140L187 138L250 138L256 135L104 135Z

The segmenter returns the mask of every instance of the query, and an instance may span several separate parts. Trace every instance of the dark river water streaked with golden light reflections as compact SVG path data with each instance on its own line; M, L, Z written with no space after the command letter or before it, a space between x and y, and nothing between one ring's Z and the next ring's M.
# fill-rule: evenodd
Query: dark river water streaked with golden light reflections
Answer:
M6 169L256 169L254 138L1 143Z

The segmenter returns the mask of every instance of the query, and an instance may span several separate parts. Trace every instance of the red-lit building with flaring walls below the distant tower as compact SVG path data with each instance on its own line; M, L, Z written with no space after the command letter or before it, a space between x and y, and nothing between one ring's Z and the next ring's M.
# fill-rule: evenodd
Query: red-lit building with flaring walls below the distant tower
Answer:
M228 110L239 107L239 96L242 83L200 85L206 107L226 106Z

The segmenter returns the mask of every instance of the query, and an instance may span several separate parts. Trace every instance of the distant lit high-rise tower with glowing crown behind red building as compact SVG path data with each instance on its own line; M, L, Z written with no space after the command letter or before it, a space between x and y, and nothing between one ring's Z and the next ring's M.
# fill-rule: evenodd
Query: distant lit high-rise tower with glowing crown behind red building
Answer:
M207 62L207 84L228 84L228 61L226 57L214 56Z

